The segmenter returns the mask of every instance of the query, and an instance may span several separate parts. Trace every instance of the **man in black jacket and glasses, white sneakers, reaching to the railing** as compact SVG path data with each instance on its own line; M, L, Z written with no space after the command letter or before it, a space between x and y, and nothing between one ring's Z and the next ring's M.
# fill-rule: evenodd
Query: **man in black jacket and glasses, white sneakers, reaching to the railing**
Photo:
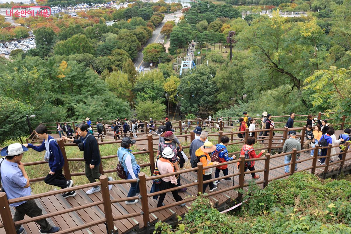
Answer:
M96 180L99 180L100 178L100 172L99 172L99 165L101 163L101 157L100 157L100 152L99 152L99 147L98 147L98 142L95 139L95 137L88 133L88 125L85 123L81 123L78 128L78 133L81 136L80 139L69 139L67 137L63 137L64 139L68 141L72 141L73 143L76 143L77 145L80 144L82 145L81 147L78 146L81 150L83 150L84 153L84 160L85 160L85 176L88 178L90 183L96 182ZM112 181L113 178L110 176L107 178L108 181ZM112 189L112 185L108 186L108 189ZM86 191L86 194L93 194L96 192L99 192L101 189L99 186L95 186L88 191Z

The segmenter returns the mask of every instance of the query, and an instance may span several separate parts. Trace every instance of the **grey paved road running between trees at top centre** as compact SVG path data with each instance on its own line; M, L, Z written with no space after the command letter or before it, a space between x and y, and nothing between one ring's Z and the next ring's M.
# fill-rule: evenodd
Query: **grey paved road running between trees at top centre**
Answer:
M174 14L165 14L165 18L164 20L161 22L161 24L159 26L157 26L156 30L153 31L152 33L152 37L150 39L147 40L145 46L147 46L148 44L150 43L155 43L155 42L162 42L162 40L164 39L164 35L161 34L161 28L164 26L164 24L167 22L167 21L170 21L170 20L175 20L176 21L176 24L178 23L178 20L179 20L179 17L182 15L181 12L177 13L176 17L174 17ZM144 47L145 47L144 46ZM144 49L144 48L143 48ZM134 59L134 66L139 68L140 66L144 66L144 67L150 67L150 63L149 62L145 62L143 60L144 58L144 55L143 55L143 49L141 49L139 52L138 52L138 56L137 58Z

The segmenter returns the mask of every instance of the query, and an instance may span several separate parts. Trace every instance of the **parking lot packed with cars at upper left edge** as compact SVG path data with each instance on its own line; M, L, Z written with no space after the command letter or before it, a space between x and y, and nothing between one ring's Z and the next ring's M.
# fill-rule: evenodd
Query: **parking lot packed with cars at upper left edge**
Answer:
M15 49L21 49L22 51L27 51L28 49L35 48L35 38L26 38L17 41L7 41L0 43L0 55L9 58L11 51Z

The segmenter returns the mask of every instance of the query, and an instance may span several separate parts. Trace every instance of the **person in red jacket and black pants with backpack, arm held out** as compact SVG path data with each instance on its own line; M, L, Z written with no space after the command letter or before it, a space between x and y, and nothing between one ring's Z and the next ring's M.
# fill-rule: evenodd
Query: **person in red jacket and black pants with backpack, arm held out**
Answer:
M247 138L247 144L243 145L243 147L241 148L240 155L245 155L245 159L260 158L262 156L262 154L265 152L265 150L264 149L261 150L261 152L258 155L256 155L256 152L252 147L255 144L255 142L256 142L256 139L254 137ZM240 166L240 162L238 162L238 169L239 169L239 166ZM255 170L255 161L245 162L244 171L246 172L247 169L249 169L250 171L254 171ZM259 179L260 178L260 176L256 175L256 173L251 173L251 175L252 175L252 179Z

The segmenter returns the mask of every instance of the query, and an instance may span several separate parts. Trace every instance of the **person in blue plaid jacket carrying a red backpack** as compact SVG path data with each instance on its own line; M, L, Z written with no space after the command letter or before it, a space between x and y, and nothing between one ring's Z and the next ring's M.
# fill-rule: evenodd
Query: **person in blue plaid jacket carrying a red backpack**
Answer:
M221 143L216 145L216 152L218 153L218 156L220 158L220 162L228 162L228 161L232 161L234 160L233 157L229 157L228 155L228 150L227 150L227 145L229 143L229 138L228 136L222 136L221 138ZM216 172L214 173L214 178L218 178L219 177L219 172L220 170L222 170L223 175L228 175L228 165L222 165L219 167L216 167ZM231 180L231 178L225 178L223 180ZM220 180L215 181L217 184L220 183Z

